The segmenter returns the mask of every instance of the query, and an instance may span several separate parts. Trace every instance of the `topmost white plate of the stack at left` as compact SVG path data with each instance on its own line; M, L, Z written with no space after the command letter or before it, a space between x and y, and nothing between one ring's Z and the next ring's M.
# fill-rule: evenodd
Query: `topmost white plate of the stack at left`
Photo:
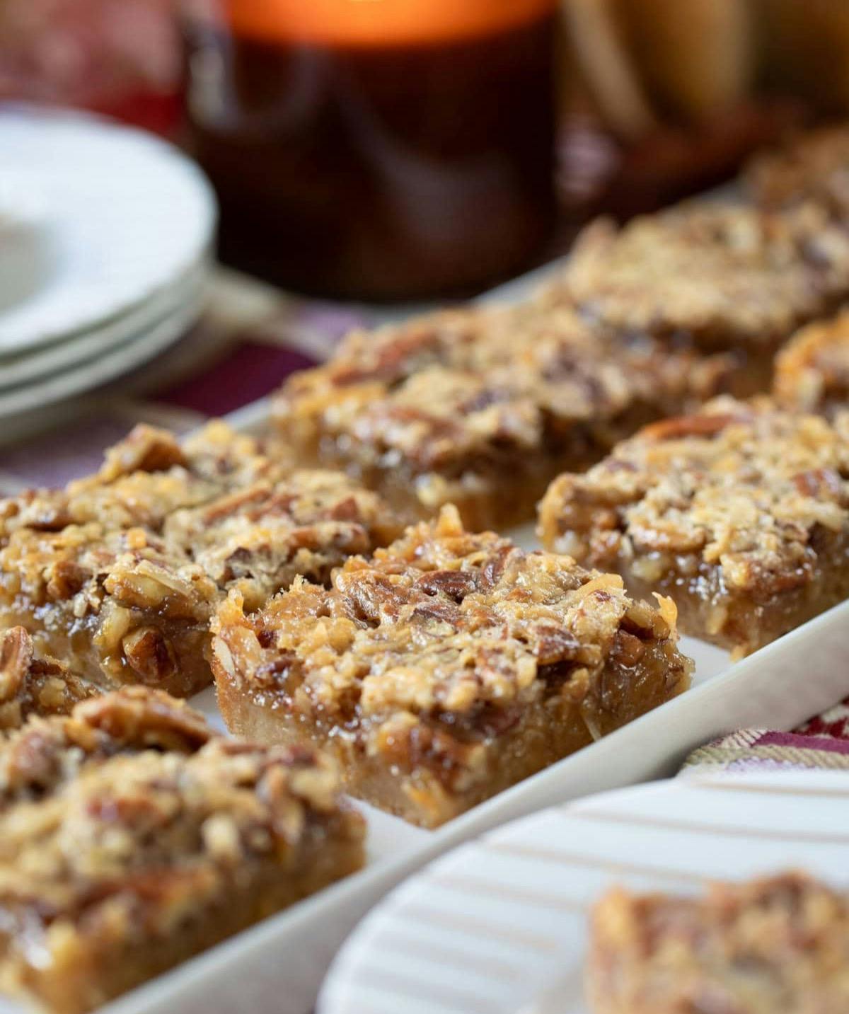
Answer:
M215 201L195 164L95 117L0 106L4 179L21 200L38 195L47 267L33 291L0 301L0 357L127 312L194 268L214 238Z

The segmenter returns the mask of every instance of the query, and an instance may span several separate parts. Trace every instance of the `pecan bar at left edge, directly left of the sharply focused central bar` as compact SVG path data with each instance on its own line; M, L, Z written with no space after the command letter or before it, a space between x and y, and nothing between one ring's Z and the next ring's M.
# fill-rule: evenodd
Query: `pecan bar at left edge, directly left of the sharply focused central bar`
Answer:
M375 494L291 472L220 423L183 447L137 429L96 476L5 501L0 518L0 624L82 677L179 696L211 681L209 621L228 588L259 604L398 530Z

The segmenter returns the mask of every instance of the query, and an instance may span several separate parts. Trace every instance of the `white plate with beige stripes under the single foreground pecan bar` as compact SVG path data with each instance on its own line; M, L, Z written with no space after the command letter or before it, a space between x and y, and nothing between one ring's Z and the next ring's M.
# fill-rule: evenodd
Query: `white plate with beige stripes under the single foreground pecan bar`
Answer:
M845 773L701 775L546 810L381 902L319 1014L588 1014L587 912L607 888L691 893L788 869L846 888L847 851Z

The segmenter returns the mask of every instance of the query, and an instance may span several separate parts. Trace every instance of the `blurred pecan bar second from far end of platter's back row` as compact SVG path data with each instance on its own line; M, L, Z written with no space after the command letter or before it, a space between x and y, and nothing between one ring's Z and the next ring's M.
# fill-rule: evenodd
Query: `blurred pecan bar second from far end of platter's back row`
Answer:
M825 209L695 203L592 223L549 292L619 333L733 354L737 396L766 390L776 350L847 295L849 234Z

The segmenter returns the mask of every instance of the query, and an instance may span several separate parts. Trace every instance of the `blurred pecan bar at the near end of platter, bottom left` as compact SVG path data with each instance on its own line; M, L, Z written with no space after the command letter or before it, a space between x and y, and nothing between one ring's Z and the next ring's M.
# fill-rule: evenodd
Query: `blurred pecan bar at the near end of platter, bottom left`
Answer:
M127 687L0 742L0 991L82 1014L358 869L307 747Z

